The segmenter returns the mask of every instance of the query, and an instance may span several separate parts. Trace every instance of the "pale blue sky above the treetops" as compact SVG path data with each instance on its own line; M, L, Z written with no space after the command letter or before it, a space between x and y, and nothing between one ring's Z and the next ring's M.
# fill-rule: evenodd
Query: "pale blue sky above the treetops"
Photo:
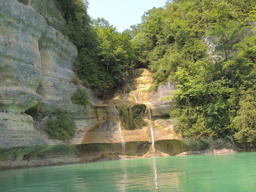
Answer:
M102 17L119 32L138 24L144 12L163 7L166 0L88 0L88 14L92 19Z

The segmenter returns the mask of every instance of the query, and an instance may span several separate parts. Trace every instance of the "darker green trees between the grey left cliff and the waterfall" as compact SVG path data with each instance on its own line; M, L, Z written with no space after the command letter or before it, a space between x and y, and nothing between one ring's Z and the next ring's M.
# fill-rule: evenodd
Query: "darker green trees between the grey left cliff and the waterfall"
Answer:
M132 35L119 33L107 20L92 20L87 1L56 0L67 24L60 28L78 48L75 72L83 84L105 97L133 64Z

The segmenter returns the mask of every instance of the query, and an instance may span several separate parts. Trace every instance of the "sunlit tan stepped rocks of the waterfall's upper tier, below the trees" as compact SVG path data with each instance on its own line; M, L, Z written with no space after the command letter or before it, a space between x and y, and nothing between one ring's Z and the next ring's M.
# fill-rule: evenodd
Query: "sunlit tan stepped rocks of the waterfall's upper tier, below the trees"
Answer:
M174 108L170 93L175 90L176 83L161 84L156 91L150 92L154 79L148 69L132 69L128 73L129 79L106 103L119 105L144 103L150 106L152 117L169 116Z

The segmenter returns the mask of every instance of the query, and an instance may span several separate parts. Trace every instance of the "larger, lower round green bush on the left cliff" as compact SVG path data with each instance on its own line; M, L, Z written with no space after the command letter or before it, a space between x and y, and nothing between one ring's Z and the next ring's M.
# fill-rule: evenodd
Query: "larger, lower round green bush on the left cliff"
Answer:
M68 111L62 109L58 109L54 114L50 114L45 125L50 139L62 141L71 139L76 130L76 124L68 115Z

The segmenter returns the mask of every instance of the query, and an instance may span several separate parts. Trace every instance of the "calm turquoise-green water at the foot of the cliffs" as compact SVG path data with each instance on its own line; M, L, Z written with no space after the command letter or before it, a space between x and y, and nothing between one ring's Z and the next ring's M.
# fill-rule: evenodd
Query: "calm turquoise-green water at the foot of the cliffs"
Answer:
M174 156L0 171L0 191L256 191L256 153Z

